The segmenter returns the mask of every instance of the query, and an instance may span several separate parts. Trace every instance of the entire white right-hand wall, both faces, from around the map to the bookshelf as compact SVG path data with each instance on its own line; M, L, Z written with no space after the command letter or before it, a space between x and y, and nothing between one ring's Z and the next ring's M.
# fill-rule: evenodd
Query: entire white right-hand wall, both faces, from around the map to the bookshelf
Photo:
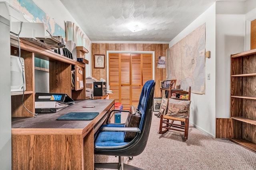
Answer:
M248 50L250 21L255 19L255 1L216 2L169 43L172 47L206 23L206 51L211 51L205 66L206 92L191 95L190 124L212 137L216 117L230 117L230 55Z

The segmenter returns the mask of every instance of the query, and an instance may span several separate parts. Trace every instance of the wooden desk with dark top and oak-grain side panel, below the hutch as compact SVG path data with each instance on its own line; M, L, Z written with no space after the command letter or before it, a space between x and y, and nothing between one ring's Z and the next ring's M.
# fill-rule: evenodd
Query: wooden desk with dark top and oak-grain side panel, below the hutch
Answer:
M83 108L82 106L96 106ZM94 169L94 133L114 100L80 100L57 113L12 120L12 169ZM99 112L91 121L57 121L69 112Z

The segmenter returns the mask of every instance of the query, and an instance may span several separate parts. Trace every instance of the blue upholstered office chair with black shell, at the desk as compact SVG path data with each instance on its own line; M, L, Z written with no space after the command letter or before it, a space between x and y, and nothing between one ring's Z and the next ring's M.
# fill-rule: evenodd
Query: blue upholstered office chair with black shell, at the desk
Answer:
M94 154L118 156L119 162L115 163L95 163L94 168L108 169L140 169L124 164L124 156L129 158L137 156L143 152L148 141L150 131L152 108L154 98L155 81L148 80L140 94L138 110L141 113L140 124L138 127L124 127L124 124L102 125L95 134ZM135 137L131 141L125 141L127 132L135 132Z

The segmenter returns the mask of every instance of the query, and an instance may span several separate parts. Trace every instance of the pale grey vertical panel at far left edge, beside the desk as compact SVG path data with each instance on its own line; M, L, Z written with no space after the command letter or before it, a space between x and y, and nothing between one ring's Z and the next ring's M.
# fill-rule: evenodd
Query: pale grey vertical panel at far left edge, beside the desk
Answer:
M10 18L0 17L0 169L12 169Z

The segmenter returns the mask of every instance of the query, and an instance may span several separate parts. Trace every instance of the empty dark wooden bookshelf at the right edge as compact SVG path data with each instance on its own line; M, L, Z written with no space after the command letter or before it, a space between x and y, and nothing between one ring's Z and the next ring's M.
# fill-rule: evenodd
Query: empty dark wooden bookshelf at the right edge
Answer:
M231 55L231 141L256 152L256 49Z

